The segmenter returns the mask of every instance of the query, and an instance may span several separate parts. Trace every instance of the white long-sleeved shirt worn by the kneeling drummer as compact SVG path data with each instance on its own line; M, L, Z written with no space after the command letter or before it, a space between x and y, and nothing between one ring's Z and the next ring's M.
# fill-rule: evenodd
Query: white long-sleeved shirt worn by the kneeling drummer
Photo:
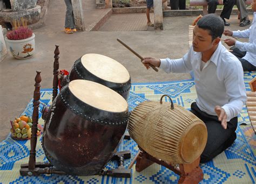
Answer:
M197 105L201 111L217 116L214 111L220 105L227 115L227 121L238 116L246 102L244 72L241 62L219 43L217 49L200 70L201 52L193 47L181 59L160 59L159 68L166 73L194 72L197 91Z

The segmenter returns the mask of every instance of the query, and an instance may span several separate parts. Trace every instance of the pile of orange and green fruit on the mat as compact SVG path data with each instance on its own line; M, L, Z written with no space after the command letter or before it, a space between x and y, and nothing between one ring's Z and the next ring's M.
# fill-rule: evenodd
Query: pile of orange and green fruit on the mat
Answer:
M11 121L11 133L13 138L28 139L31 138L32 119L29 116L22 115L19 118L15 118L15 121ZM38 128L37 135L41 132Z

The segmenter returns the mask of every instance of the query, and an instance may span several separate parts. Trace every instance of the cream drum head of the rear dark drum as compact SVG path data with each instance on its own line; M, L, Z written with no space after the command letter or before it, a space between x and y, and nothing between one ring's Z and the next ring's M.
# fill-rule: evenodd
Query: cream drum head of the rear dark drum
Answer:
M105 55L85 54L81 62L90 73L105 81L125 83L130 79L129 72L121 63Z

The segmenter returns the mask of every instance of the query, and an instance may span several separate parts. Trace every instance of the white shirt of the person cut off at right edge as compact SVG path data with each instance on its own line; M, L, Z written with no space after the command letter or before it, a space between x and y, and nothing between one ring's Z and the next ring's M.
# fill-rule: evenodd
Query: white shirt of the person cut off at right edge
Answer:
M235 41L235 47L239 48L240 51L246 51L244 58L252 65L256 66L256 12L253 13L253 22L249 29L244 31L233 31L234 37L249 38L248 43L241 41Z

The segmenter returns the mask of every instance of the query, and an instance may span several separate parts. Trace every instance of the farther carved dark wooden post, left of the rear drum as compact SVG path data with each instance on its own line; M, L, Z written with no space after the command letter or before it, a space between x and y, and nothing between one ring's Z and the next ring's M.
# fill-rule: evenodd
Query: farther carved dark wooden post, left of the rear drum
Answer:
M58 94L58 74L59 74L59 46L55 45L53 63L53 83L52 83L52 102Z

